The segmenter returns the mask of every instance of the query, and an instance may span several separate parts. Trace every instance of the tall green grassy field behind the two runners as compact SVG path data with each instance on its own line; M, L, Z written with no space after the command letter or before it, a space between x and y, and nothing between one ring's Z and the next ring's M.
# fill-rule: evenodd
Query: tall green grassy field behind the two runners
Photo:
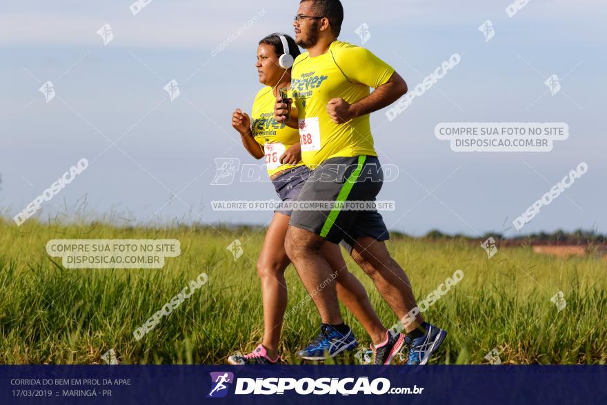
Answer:
M0 364L95 364L113 348L122 364L223 364L250 351L262 334L255 262L263 229L114 228L0 220ZM181 256L161 270L66 270L50 260L50 239L178 239ZM226 246L239 239L237 261ZM461 269L464 278L426 312L448 330L432 363L483 364L497 349L502 364L604 364L607 360L607 264L558 259L530 248L503 248L488 259L477 244L398 238L388 248L418 299ZM348 257L386 326L397 321L370 279ZM200 273L208 283L140 341L132 335ZM295 269L287 270L291 310L281 354L317 334L319 317ZM566 308L550 297L562 290ZM304 301L302 303L302 301ZM369 338L344 309L359 342ZM339 361L351 362L352 357Z

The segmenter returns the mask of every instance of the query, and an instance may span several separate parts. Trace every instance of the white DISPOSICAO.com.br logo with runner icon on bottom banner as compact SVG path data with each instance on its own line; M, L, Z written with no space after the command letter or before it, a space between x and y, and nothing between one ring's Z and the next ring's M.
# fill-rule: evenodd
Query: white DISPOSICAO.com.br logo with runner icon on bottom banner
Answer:
M210 373L212 386L207 397L224 397L228 386L232 384L232 373ZM286 391L298 395L384 395L384 394L413 394L419 395L424 390L417 385L411 387L391 387L387 378L369 377L321 377L321 378L248 378L240 377L235 384L235 395L283 395Z

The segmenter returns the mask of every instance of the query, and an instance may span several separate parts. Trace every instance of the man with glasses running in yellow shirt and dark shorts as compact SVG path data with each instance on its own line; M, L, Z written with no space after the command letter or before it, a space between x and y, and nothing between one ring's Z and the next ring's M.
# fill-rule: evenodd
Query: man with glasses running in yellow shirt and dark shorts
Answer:
M343 20L339 0L301 0L293 26L297 44L308 52L295 59L290 100L282 103L277 98L275 106L277 121L299 128L302 160L312 169L298 201L316 201L319 207L321 201L335 202L329 210L296 210L290 219L286 252L322 319L320 335L298 354L331 355L349 342L351 333L339 313L335 283L327 283L330 266L321 255L326 242L344 239L352 246L352 258L375 282L407 332L405 336L388 330L386 341L372 346L375 364L388 364L404 342L409 347L408 364L426 364L446 331L424 322L419 314L408 277L386 249L388 230L377 210L345 209L350 201L375 201L381 190L383 175L369 115L399 99L407 86L370 51L337 40Z

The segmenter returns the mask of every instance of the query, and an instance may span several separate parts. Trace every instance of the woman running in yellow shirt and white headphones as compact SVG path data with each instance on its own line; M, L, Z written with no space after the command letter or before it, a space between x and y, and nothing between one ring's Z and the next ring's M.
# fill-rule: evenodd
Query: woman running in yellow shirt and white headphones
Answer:
M300 51L295 41L285 34L270 34L259 42L257 48L257 72L259 82L264 87L259 90L253 103L251 116L240 109L232 115L232 126L242 139L243 146L255 157L266 159L268 175L282 201L296 201L310 170L301 161L299 131L277 122L274 118L276 98L282 88L288 88L291 81L292 61ZM293 109L297 117L297 110ZM261 344L248 355L228 357L230 364L277 364L278 346L287 306L287 288L284 272L290 264L284 248L284 240L289 227L291 212L277 211L268 226L261 255L257 261L257 273L261 279L263 296L264 333ZM364 326L371 337L385 335L375 310L373 310L366 290L360 281L346 268L339 245L327 243L323 253L329 262L337 281L337 293L341 302ZM342 335L352 334L350 327L323 325L321 334L337 330ZM353 335L351 344L343 350L352 350L358 344ZM326 357L333 357L330 353Z

